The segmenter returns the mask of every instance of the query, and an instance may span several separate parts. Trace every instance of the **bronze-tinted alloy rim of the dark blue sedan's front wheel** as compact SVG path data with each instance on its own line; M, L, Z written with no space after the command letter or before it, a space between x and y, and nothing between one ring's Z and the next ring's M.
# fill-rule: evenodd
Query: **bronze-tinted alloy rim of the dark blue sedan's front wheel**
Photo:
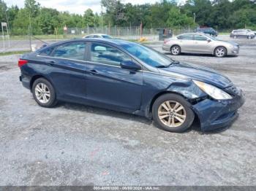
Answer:
M165 101L159 106L158 117L168 127L177 128L184 123L187 114L184 106L177 101Z

